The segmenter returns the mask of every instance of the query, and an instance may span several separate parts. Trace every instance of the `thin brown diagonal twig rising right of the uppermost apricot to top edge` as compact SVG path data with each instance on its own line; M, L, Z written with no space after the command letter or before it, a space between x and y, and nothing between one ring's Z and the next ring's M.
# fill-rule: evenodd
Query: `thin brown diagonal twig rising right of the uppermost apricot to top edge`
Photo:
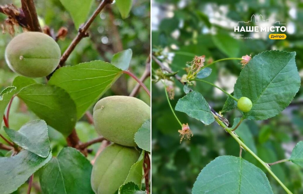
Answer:
M69 55L72 53L72 51L75 49L75 47L78 45L78 43L82 40L82 38L88 36L87 30L90 27L90 25L92 24L92 22L94 21L94 19L97 17L97 15L102 11L102 9L107 4L111 4L112 2L113 2L113 0L103 0L99 4L98 8L95 10L95 12L93 13L93 15L84 24L84 26L79 28L78 35L73 39L72 43L68 46L68 48L63 53L63 55L62 55L62 57L60 59L58 67L64 65L65 61L67 60L67 58L69 57Z

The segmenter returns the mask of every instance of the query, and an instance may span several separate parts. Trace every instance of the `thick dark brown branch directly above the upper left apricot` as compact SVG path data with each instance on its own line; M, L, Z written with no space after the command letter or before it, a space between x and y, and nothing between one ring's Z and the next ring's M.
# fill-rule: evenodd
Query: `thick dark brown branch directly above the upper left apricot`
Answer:
M30 31L42 32L38 21L34 0L21 0L21 5L28 29Z

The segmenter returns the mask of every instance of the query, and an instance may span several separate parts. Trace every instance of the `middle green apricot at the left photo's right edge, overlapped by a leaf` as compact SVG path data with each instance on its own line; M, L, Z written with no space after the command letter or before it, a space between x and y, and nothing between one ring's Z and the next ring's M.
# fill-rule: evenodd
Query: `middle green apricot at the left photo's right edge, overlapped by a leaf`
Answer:
M109 141L137 146L135 133L150 119L150 107L134 97L109 96L96 103L93 118L96 131Z

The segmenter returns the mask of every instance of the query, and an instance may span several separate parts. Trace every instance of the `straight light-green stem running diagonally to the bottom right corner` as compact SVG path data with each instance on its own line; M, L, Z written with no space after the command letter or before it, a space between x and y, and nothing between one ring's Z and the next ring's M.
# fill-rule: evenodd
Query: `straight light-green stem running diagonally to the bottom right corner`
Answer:
M244 148L246 151L248 151L252 156L254 156L255 159L257 159L262 166L265 167L265 169L269 172L269 174L271 174L271 176L273 176L276 181L283 187L283 189L288 193L288 194L292 194L292 192L283 184L283 182L281 182L281 180L275 175L274 172L271 171L269 165L264 162L263 160L261 160L253 151L251 151L251 149L249 149L245 143L243 143L238 136L232 131L231 128L227 127L220 119L215 118L217 123L219 125L221 125L221 127L225 128L225 130L239 143L240 146L242 146L242 148Z

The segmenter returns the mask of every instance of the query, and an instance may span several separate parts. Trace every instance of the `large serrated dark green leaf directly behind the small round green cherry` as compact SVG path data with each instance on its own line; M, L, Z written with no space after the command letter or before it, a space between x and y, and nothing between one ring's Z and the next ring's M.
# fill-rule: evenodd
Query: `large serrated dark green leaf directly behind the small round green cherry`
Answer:
M271 118L287 107L300 88L295 52L265 51L242 69L235 84L237 99L245 96L252 108L247 119Z

